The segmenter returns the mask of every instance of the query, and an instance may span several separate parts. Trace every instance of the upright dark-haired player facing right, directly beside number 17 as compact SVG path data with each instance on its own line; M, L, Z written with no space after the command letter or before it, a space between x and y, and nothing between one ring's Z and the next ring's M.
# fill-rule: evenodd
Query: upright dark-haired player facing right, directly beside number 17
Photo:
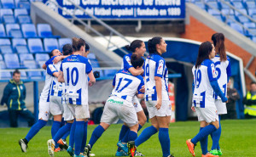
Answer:
M165 59L161 57L163 53L166 53L166 47L165 40L160 36L148 40L149 55L145 64L145 100L152 126L143 130L137 137L135 145L139 146L159 131L163 156L172 157L168 129L172 115L167 91L168 70Z

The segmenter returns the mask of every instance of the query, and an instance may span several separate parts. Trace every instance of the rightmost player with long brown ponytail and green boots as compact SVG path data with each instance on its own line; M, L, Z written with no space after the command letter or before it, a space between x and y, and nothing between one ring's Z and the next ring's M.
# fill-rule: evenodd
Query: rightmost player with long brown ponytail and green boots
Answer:
M231 76L230 59L227 57L226 48L224 44L224 34L215 33L212 35L212 42L216 50L216 55L212 59L216 68L216 75L218 79L218 85L220 89L227 95L227 83ZM211 134L212 136L212 149L211 154L222 155L222 151L219 147L219 138L221 134L220 115L227 114L226 104L221 101L217 95L215 97L215 105L218 110L218 122L219 128L216 132Z

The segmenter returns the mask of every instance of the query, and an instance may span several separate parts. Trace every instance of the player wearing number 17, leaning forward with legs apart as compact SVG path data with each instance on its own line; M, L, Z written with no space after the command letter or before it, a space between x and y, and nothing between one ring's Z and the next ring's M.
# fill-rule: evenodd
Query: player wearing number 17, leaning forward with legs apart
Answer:
M131 55L131 64L137 69L143 69L144 60L137 57L136 54ZM84 154L90 156L90 149L96 143L102 133L108 127L116 123L119 119L124 121L129 127L128 135L128 152L130 156L134 156L135 148L134 140L137 138L137 113L132 104L132 99L137 93L138 98L143 98L144 94L140 92L144 85L143 76L132 76L129 70L119 70L113 79L113 91L110 98L108 98L103 114L101 123L92 132L89 144L84 148ZM133 143L131 143L133 141Z

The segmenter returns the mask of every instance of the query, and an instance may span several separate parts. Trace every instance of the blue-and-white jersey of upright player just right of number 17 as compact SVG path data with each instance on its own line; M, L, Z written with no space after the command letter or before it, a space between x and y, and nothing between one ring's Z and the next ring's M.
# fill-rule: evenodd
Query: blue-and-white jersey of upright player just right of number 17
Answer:
M150 54L145 63L145 89L146 101L157 100L154 76L161 77L162 100L169 100L168 95L168 70L166 61L158 54Z

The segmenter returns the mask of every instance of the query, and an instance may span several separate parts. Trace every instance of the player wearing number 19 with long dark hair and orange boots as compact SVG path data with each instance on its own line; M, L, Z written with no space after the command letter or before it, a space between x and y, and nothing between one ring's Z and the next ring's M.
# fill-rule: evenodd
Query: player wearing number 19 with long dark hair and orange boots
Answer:
M218 129L218 113L213 93L216 93L226 102L228 99L218 87L214 63L211 59L215 56L215 49L211 42L203 42L199 48L194 75L193 104L191 109L196 111L200 121L200 132L192 139L186 141L189 152L195 156L195 144L201 142L202 157L217 157L207 151L207 137Z

